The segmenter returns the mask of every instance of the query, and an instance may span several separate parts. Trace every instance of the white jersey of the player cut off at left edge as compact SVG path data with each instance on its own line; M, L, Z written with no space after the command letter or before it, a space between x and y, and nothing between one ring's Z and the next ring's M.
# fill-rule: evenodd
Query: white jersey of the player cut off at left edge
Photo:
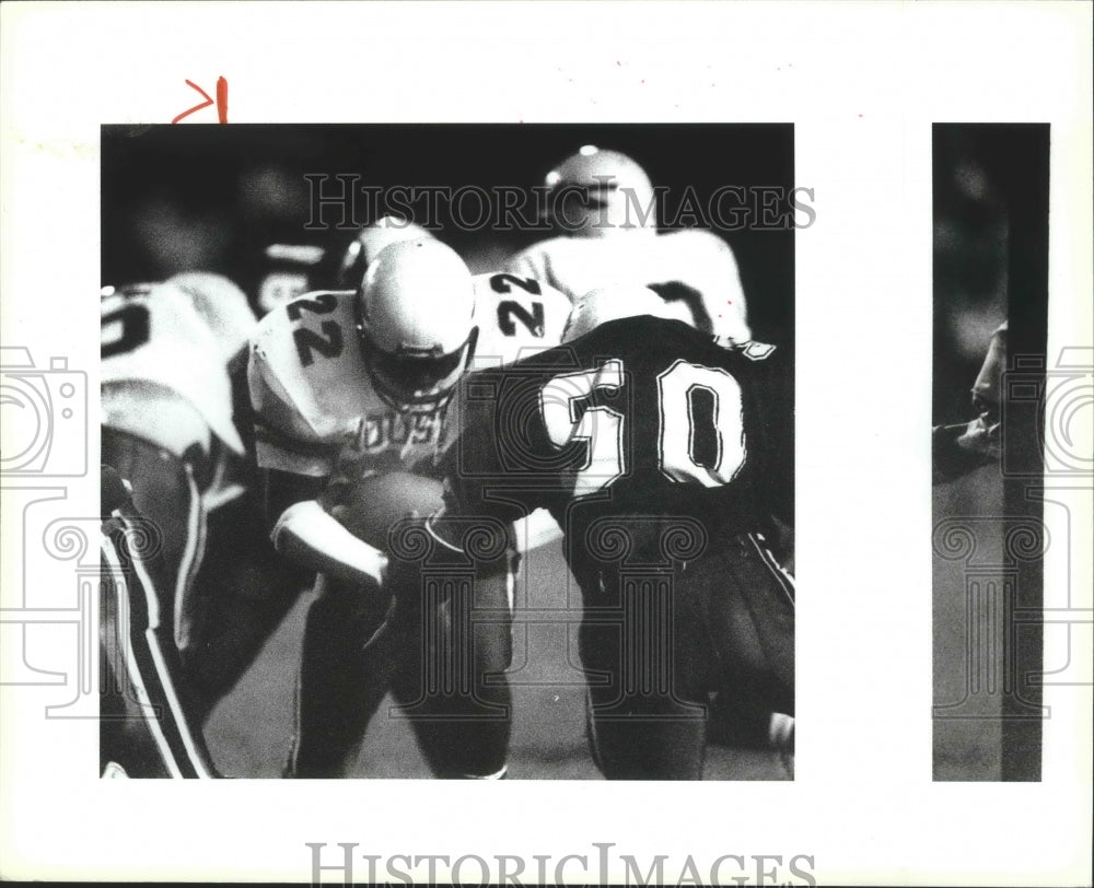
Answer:
M170 283L130 288L101 302L102 392L104 422L175 453L181 435L194 432L155 421L153 399L142 405L142 390L166 404L182 398L209 430L236 454L244 446L232 421L232 386L220 344L195 311L193 300ZM173 393L164 398L165 393ZM179 414L181 416L181 414ZM176 441L175 439L179 439ZM176 453L177 456L182 454Z

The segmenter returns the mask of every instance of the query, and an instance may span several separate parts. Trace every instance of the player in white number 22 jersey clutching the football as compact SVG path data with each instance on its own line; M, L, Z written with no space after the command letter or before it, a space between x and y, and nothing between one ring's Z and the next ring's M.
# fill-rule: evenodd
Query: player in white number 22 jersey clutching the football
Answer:
M400 680L415 680L362 652L393 591L383 528L365 541L346 515L391 510L361 501L375 488L362 491L370 479L431 469L459 377L556 344L569 309L561 293L533 280L473 278L450 247L417 238L382 249L359 290L309 293L260 323L248 375L268 521L278 551L319 574L288 775L345 775L388 683L399 691ZM415 495L439 503L440 484L419 483ZM500 739L490 736L497 724L416 727L439 775L503 770L508 727Z

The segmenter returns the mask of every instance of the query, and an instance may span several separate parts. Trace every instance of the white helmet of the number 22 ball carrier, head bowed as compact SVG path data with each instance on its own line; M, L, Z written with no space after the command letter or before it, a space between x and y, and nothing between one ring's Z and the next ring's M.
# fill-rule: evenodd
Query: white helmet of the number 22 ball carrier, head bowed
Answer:
M452 247L400 241L369 265L358 332L376 390L395 407L444 402L475 353L472 273Z

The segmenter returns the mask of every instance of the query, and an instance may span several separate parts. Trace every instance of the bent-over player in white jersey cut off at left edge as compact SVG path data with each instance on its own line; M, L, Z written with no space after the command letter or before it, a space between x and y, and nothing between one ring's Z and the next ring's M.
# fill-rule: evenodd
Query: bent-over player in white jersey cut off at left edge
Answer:
M243 292L220 281L228 295L214 300L188 276L110 289L101 301L103 461L133 486L141 514L163 530L170 575L153 580L179 617L190 604L206 513L237 495L231 464L244 457L226 365L255 318ZM187 620L176 619L179 650L188 633Z

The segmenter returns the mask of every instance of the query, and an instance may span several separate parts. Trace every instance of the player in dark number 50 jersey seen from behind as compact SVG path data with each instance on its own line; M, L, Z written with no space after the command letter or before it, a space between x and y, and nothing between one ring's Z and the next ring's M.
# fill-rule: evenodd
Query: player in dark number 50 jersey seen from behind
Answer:
M773 347L725 348L677 309L644 288L594 291L562 346L468 376L445 507L393 534L389 569L420 572L422 600L446 596L455 631L423 650L423 698L502 735L511 527L551 513L612 779L701 778L708 694L728 676L793 714L793 581L767 544L771 515L792 522L790 374ZM407 596L393 619L422 610Z

